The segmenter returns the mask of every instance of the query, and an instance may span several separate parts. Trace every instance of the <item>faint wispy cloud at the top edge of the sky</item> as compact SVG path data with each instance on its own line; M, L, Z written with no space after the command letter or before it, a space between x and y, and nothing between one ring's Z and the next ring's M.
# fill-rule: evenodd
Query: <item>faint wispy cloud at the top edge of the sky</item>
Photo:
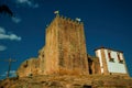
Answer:
M26 4L26 6L31 7L31 8L38 8L38 3L34 3L31 0L16 0L16 3L18 4Z

